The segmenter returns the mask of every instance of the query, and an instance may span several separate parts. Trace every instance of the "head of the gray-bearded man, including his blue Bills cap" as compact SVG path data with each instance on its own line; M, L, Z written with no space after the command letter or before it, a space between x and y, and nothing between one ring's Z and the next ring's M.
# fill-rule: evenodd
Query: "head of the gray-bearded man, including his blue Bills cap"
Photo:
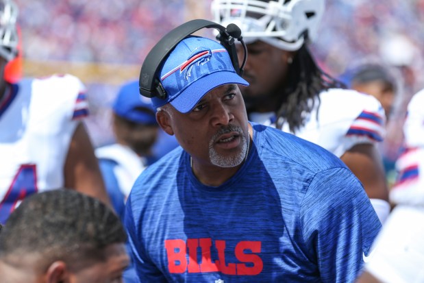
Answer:
M185 38L166 58L160 81L167 95L152 98L156 118L190 154L199 180L200 167L238 169L250 143L238 88L247 82L234 71L224 47L208 38Z

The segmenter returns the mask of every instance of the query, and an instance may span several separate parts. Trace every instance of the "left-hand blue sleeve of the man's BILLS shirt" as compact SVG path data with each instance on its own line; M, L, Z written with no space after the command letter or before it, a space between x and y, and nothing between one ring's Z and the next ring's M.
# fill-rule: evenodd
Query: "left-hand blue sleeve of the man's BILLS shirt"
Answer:
M149 256L145 252L144 244L142 243L140 213L136 205L137 202L132 201L132 195L129 195L125 206L125 227L128 233L129 254L132 257L132 264L136 269L140 282L168 282L155 264L149 260ZM133 207L134 206L134 207ZM136 210L134 213L133 210ZM136 217L134 216L136 215Z

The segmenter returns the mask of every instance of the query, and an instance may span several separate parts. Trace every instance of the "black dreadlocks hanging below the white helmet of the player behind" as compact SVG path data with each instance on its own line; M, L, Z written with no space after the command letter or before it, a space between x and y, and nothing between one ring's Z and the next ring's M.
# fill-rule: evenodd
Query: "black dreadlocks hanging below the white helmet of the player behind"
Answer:
M319 93L322 90L346 88L319 68L306 45L302 45L290 64L287 84L285 94L277 103L280 107L276 112L276 126L281 129L288 123L293 133L305 124L305 113L310 112L315 103L321 103Z

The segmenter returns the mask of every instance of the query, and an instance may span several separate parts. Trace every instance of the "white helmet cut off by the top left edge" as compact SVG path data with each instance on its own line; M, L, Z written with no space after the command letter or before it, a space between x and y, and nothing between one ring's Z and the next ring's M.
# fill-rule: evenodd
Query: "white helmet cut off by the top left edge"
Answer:
M18 7L11 0L0 1L0 56L12 60L18 54L16 18Z

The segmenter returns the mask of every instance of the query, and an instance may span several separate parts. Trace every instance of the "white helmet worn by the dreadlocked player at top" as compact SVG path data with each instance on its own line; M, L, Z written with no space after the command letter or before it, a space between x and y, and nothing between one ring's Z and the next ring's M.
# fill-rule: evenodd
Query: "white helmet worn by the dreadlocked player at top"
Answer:
M235 23L246 42L262 40L279 49L296 51L316 37L325 0L214 0L216 23Z

